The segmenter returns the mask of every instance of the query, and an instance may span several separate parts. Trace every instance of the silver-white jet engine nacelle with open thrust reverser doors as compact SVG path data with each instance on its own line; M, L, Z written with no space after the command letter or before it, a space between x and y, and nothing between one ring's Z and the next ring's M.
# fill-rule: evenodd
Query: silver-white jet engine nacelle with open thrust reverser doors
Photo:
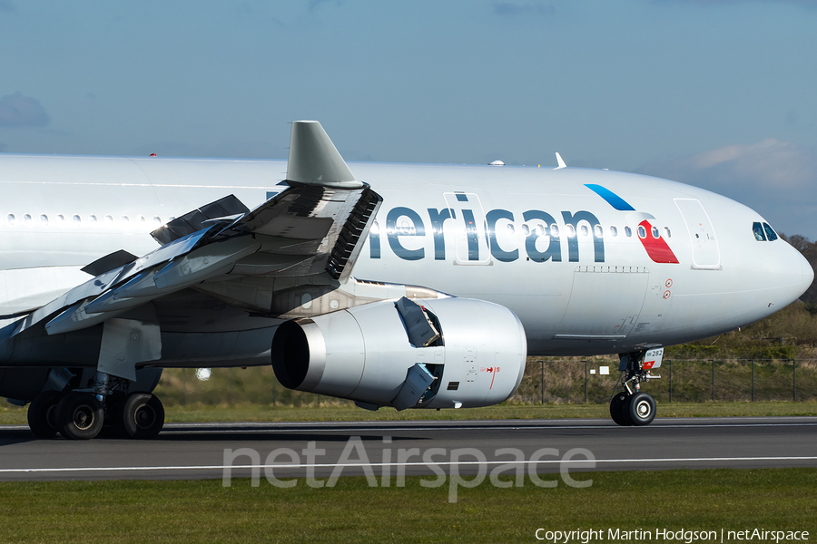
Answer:
M517 390L527 340L513 312L469 298L414 302L440 335L427 347L409 342L406 306L376 302L281 324L271 346L275 375L290 389L399 409L488 406Z

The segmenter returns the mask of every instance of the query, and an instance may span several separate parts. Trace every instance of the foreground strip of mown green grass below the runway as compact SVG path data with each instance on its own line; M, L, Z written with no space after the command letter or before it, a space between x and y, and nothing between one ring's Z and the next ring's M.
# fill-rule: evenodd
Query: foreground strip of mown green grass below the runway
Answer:
M577 477L578 478L578 477ZM291 489L261 480L0 483L4 542L513 542L550 530L792 529L817 534L817 469L582 473L584 489ZM427 478L430 480L430 478ZM655 540L655 534L653 536ZM574 542L576 540L573 540ZM683 540L682 540L683 541Z

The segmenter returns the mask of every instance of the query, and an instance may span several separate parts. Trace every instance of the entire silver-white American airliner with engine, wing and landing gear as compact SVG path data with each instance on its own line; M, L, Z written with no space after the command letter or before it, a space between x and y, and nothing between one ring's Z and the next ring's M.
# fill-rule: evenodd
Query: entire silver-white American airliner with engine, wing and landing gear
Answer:
M665 345L812 283L752 209L558 161L350 170L316 121L287 162L0 155L0 395L40 437L150 438L164 367L403 410L501 403L528 354L619 354L611 415L645 425Z

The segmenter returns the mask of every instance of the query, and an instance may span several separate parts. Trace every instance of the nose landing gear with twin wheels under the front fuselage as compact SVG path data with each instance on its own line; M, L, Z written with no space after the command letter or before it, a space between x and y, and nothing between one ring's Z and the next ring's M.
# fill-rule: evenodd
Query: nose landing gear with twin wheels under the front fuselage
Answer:
M623 391L616 391L610 399L610 417L619 425L649 425L655 419L655 399L647 393L642 393L641 383L655 380L661 376L651 374L650 368L657 368L661 364L661 354L658 354L655 364L653 361L645 364L645 355L655 352L640 351L621 355L621 364L618 369L621 371L621 382L619 383Z

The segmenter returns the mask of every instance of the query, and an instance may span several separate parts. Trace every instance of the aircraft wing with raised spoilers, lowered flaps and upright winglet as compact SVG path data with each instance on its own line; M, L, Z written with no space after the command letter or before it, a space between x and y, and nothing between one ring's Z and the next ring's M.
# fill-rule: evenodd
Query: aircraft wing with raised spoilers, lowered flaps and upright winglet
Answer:
M349 277L382 199L355 180L317 121L292 125L287 189L256 209L234 196L192 210L153 231L162 246L125 251L84 267L94 277L15 324L69 333L136 310L202 282L236 277Z

